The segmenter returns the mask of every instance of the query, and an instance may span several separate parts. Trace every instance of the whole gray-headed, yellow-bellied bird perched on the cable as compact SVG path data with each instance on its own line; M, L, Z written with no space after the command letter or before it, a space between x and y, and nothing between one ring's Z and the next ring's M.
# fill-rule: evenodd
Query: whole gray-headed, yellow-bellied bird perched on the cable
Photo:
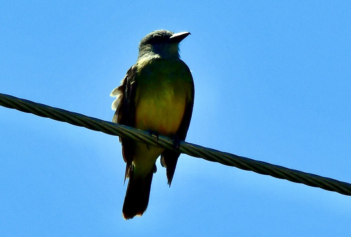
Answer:
M112 103L114 123L185 140L193 111L194 82L188 66L179 59L179 42L189 34L161 29L140 41L137 62L111 92L116 97ZM131 219L143 215L147 208L156 159L161 155L171 185L180 153L128 138L119 140L126 162L124 180L129 178L122 214Z

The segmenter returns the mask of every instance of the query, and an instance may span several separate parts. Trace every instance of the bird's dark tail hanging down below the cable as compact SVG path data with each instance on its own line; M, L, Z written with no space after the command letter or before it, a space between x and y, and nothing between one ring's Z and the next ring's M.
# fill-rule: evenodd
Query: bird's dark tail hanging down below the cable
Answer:
M133 171L131 172L122 208L124 219L141 216L145 212L153 174L154 170L151 170L146 177L133 177Z

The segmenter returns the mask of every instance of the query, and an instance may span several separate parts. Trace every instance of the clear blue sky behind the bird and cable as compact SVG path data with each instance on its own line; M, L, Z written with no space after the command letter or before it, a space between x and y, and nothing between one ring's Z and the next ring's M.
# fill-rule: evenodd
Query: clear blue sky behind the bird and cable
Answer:
M350 1L1 1L0 92L111 120L156 29L193 73L187 141L351 182ZM1 236L349 236L351 197L181 155L121 216L118 137L0 107Z

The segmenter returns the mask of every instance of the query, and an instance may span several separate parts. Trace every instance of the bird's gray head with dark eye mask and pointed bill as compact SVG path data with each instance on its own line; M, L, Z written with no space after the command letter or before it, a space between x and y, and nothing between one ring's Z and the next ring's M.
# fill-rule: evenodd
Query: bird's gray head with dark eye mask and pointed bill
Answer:
M138 59L149 56L179 58L179 42L189 34L189 32L173 33L164 29L153 31L140 41Z

